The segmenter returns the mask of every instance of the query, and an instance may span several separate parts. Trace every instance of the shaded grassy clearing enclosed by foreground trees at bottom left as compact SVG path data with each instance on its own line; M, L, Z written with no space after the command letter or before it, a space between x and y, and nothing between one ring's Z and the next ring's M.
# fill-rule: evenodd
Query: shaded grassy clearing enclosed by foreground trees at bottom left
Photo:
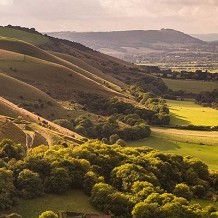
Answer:
M99 214L89 202L88 197L80 190L71 190L64 195L45 195L42 198L24 200L20 199L19 205L13 211L23 218L37 218L46 210L75 211L81 213Z

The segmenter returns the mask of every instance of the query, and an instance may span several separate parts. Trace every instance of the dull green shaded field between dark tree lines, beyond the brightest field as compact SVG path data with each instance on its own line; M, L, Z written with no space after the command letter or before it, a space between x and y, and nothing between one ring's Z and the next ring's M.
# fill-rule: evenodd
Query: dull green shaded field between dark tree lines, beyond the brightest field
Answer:
M212 91L218 88L218 82L173 79L163 79L163 81L173 91L184 90L186 92L199 93L202 91Z

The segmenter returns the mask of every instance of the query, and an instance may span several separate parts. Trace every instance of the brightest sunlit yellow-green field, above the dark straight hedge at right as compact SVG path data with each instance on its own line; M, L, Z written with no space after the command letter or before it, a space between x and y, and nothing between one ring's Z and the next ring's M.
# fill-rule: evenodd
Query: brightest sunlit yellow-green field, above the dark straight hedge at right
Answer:
M167 100L170 108L170 125L218 125L218 110L202 107L193 101Z

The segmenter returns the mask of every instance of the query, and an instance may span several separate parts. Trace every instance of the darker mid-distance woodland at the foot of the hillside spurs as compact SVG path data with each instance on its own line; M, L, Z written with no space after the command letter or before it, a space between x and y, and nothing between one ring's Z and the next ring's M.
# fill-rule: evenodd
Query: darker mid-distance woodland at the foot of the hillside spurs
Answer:
M143 107L117 98L104 99L83 93L81 104L85 104L85 109L102 116L95 121L80 116L54 122L85 137L103 140L107 144L113 144L119 139L122 142L143 139L151 133L149 124L169 124L169 109L164 99L152 93L145 93L137 85L131 86L129 91ZM110 140L113 137L117 139L115 142Z

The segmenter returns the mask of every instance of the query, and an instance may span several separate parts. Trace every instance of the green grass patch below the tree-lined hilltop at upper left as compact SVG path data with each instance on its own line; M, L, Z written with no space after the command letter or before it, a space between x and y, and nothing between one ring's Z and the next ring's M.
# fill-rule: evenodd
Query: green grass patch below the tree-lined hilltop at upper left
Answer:
M16 38L34 45L40 45L49 42L49 38L46 36L7 27L0 27L0 36Z

